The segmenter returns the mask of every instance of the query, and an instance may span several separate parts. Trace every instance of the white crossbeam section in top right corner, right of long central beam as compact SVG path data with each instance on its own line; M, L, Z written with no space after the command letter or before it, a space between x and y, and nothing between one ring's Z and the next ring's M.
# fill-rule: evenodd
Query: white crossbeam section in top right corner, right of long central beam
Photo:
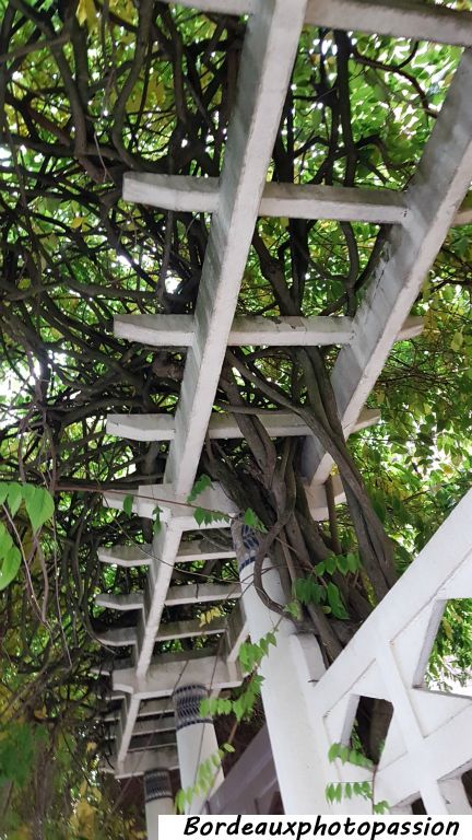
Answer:
M308 25L472 45L472 14L418 0L309 0Z

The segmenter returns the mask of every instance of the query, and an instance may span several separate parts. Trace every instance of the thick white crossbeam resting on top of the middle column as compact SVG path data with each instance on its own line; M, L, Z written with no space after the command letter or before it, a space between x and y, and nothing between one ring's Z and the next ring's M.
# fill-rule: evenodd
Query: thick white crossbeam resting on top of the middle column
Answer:
M113 673L115 690L121 689L135 699L146 700L169 697L180 685L200 682L212 691L240 686L243 676L236 663L227 663L222 656L160 656L152 661L145 677L137 677L134 668L116 668Z

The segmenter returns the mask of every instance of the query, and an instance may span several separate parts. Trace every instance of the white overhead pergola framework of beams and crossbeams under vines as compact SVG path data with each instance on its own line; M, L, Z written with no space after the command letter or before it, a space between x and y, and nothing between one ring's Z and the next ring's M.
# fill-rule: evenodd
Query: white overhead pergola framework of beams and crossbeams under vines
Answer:
M103 607L135 610L139 615L135 628L110 631L102 638L109 646L131 645L133 650L130 666L115 669L111 675L113 697L123 698L118 718L111 715L109 721L115 743L111 766L118 778L141 774L155 767L156 761L176 766L175 739L168 737L174 721L166 715L173 711L168 698L182 680L204 682L213 692L241 681L237 652L248 633L240 607L241 588L229 584L172 585L175 563L235 557L231 550L201 549L197 539L182 540L184 535L194 535L198 530L193 510L186 502L205 435L210 439L241 436L234 417L214 410L226 348L338 345L341 349L332 371L332 385L345 435L377 422L379 415L365 407L366 399L393 343L421 332L421 319L412 318L410 312L450 226L472 221L472 211L461 209L472 178L472 54L468 49L462 55L416 174L404 192L267 182L303 26L359 30L468 47L472 46L471 13L410 0L185 0L181 4L205 12L248 14L249 20L220 178L148 173L129 173L125 177L126 200L174 211L206 212L211 213L212 221L194 314L122 315L115 322L115 332L121 338L152 347L186 349L184 378L174 416L113 415L107 424L110 434L137 441L169 442L163 483L137 488L133 502L133 511L150 518L158 503L163 511L161 533L149 546L117 546L99 552L103 562L149 567L144 593L97 597ZM259 215L392 225L384 255L354 318L235 317ZM323 518L327 511L324 483L332 469L331 458L294 415L274 411L269 416L262 413L260 419L272 436L305 436L307 499L314 517ZM333 483L335 500L340 502L343 500L342 488L335 478ZM121 509L122 501L120 493L106 494L110 506ZM234 504L219 486L206 489L198 503L224 514L236 513ZM228 527L227 521L223 518L211 524L211 527L219 526ZM200 529L204 527L202 525ZM402 585L401 581L390 593L389 604L400 598L396 593ZM194 620L172 625L161 621L165 606L217 604L227 599L235 602L228 621L211 623L208 628L201 628ZM382 605L380 609L387 607ZM156 641L209 632L225 637L224 645L220 644L212 655L197 652L153 657ZM365 634L367 630L361 632ZM353 650L356 639L350 645ZM354 656L349 653L350 648L322 677L321 684L329 686L327 713L341 708L344 702L341 684L345 682L345 691L350 691L345 677L351 667L345 663ZM386 655L384 649L380 653ZM334 669L337 674L342 673L342 679L330 677ZM403 674L404 685L410 676L406 672ZM317 698L321 684L314 689L318 692ZM410 689L413 690L413 682ZM406 702L413 703L404 698L399 702L403 707ZM344 707L342 709L344 713ZM319 727L318 718L316 726ZM415 744L420 745L424 733L418 733L417 727L415 733ZM142 735L153 736L152 748L148 746L134 751L133 744ZM323 749L320 738L319 756ZM472 758L472 750L470 752ZM450 777L459 767L455 761L456 758L452 759L453 767L446 762L446 775ZM444 790L442 785L435 789L437 795L430 790L426 794L430 807L436 808L434 813L438 813L439 803L446 813ZM399 805L415 792L405 788L397 795L392 783L390 801ZM284 798L283 790L282 796ZM288 794L284 802L290 808ZM296 804L297 813L308 813L299 808L303 803ZM324 809L327 807L324 803Z

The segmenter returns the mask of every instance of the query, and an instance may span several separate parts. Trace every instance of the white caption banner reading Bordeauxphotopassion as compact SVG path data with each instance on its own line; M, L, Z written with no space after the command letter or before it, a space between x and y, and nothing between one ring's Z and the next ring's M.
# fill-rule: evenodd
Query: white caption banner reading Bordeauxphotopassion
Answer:
M472 816L224 816L158 817L158 840L192 838L278 837L286 840L306 838L366 838L388 840L390 837L472 838Z

